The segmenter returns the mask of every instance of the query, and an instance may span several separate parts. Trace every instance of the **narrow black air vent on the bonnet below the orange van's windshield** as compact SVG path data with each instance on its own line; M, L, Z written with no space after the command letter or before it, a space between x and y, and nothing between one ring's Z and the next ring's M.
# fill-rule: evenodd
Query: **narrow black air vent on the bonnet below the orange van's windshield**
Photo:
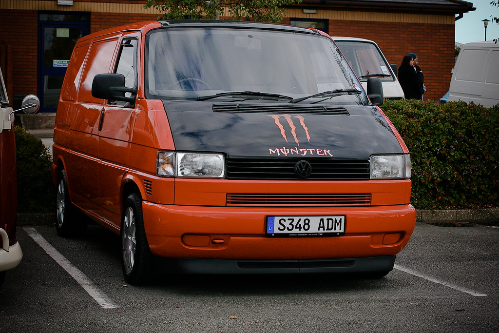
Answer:
M250 113L301 113L350 115L344 107L321 105L267 105L267 104L213 104L214 112L250 112Z

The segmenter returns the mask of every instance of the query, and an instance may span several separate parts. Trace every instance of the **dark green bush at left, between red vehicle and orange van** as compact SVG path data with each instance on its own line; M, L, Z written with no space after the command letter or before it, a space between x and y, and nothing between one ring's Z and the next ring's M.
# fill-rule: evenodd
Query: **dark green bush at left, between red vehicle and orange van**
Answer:
M52 156L43 142L22 127L15 126L17 159L17 211L53 213L55 191L50 180Z

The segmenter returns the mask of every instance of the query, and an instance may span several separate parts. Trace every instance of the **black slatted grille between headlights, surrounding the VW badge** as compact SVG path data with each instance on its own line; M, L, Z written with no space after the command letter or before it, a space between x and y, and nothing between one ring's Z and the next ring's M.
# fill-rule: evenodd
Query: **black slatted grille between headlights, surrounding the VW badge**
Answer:
M368 180L369 159L339 158L228 158L228 179L296 180L298 161L306 160L312 167L307 180Z

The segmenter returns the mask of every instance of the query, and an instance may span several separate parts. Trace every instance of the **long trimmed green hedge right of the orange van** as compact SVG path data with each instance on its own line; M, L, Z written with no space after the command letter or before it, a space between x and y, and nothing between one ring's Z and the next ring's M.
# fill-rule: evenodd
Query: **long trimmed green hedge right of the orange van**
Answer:
M498 207L499 106L385 101L411 153L418 209Z

